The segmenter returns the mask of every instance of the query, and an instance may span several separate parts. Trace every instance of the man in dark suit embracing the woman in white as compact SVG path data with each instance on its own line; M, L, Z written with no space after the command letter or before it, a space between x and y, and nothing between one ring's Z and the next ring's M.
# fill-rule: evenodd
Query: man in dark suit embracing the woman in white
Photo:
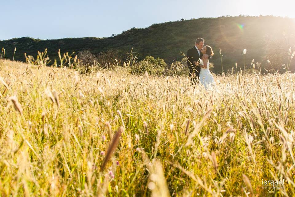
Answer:
M201 49L204 46L204 39L198 38L195 42L195 46L189 50L187 50L187 66L189 70L189 75L191 78L191 83L196 84L199 81L199 74L200 74L200 61L199 58L203 60L203 58L208 57L207 54L202 54ZM211 57L208 57L209 59Z

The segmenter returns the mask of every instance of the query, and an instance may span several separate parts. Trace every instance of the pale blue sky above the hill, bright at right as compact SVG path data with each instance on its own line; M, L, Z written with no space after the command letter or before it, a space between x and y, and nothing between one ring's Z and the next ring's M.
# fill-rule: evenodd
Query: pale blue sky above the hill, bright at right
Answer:
M1 0L0 40L109 37L132 27L181 18L239 14L295 18L295 1L280 0Z

